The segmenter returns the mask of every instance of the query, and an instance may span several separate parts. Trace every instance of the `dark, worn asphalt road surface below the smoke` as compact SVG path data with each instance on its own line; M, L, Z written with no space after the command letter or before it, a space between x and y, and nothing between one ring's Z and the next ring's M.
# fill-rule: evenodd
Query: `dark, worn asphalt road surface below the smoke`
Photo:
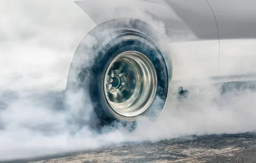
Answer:
M4 163L256 163L256 133L125 143Z

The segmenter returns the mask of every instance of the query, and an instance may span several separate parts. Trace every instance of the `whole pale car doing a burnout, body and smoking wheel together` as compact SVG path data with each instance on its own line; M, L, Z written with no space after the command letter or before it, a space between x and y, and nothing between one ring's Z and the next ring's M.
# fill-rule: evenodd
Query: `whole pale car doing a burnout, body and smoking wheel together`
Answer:
M155 121L172 85L256 79L255 0L75 2L97 26L73 56L66 92L90 97L104 124Z

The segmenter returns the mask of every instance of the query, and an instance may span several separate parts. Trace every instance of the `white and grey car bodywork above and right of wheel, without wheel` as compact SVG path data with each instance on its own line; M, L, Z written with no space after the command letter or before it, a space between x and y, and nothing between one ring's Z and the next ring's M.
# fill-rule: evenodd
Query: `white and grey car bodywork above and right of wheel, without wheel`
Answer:
M254 0L75 1L99 25L117 18L163 22L172 81L206 84L256 79Z

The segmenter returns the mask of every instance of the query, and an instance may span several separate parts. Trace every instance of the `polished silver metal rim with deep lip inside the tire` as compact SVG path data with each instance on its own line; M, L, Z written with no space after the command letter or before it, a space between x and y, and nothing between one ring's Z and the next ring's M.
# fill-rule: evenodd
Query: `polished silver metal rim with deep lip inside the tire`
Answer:
M112 110L125 117L142 114L157 91L157 73L143 53L126 51L108 66L104 80L105 99Z

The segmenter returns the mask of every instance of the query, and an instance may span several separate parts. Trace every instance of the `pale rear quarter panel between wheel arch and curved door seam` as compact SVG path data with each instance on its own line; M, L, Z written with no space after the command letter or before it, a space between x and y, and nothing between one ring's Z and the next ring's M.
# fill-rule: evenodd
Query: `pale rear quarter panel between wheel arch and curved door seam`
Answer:
M218 31L206 0L84 0L76 3L97 25L121 17L135 18L166 35L168 56L173 65L172 82L218 75Z

